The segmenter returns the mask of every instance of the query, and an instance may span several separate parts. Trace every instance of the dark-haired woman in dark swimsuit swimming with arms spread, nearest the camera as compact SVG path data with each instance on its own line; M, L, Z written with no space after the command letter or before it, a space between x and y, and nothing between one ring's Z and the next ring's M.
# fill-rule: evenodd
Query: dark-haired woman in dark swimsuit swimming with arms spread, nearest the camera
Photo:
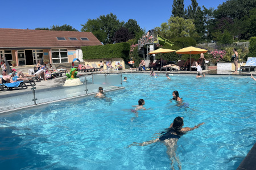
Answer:
M182 117L176 117L174 119L174 122L170 125L170 127L162 132L162 135L159 138L153 139L151 141L146 141L142 143L137 143L134 142L133 144L129 145L128 147L131 146L146 146L150 145L155 142L163 142L164 145L167 147L167 154L172 162L172 166L174 165L174 161L176 160L178 163L179 168L181 169L181 163L179 162L179 157L176 156L176 144L179 138L185 134L187 131L191 131L194 129L199 128L203 123L195 125L193 128L185 127L183 128L183 118ZM172 167L174 168L174 167Z

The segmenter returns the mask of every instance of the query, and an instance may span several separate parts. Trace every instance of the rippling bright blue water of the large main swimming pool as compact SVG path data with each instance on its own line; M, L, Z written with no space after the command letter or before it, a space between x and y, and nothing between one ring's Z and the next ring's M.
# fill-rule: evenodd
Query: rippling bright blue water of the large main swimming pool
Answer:
M125 90L0 116L1 169L236 169L254 145L256 82L249 76L124 74ZM170 103L179 91L187 107ZM144 99L147 111L130 110ZM175 117L199 129L174 148L157 142ZM171 158L172 159L172 158Z

